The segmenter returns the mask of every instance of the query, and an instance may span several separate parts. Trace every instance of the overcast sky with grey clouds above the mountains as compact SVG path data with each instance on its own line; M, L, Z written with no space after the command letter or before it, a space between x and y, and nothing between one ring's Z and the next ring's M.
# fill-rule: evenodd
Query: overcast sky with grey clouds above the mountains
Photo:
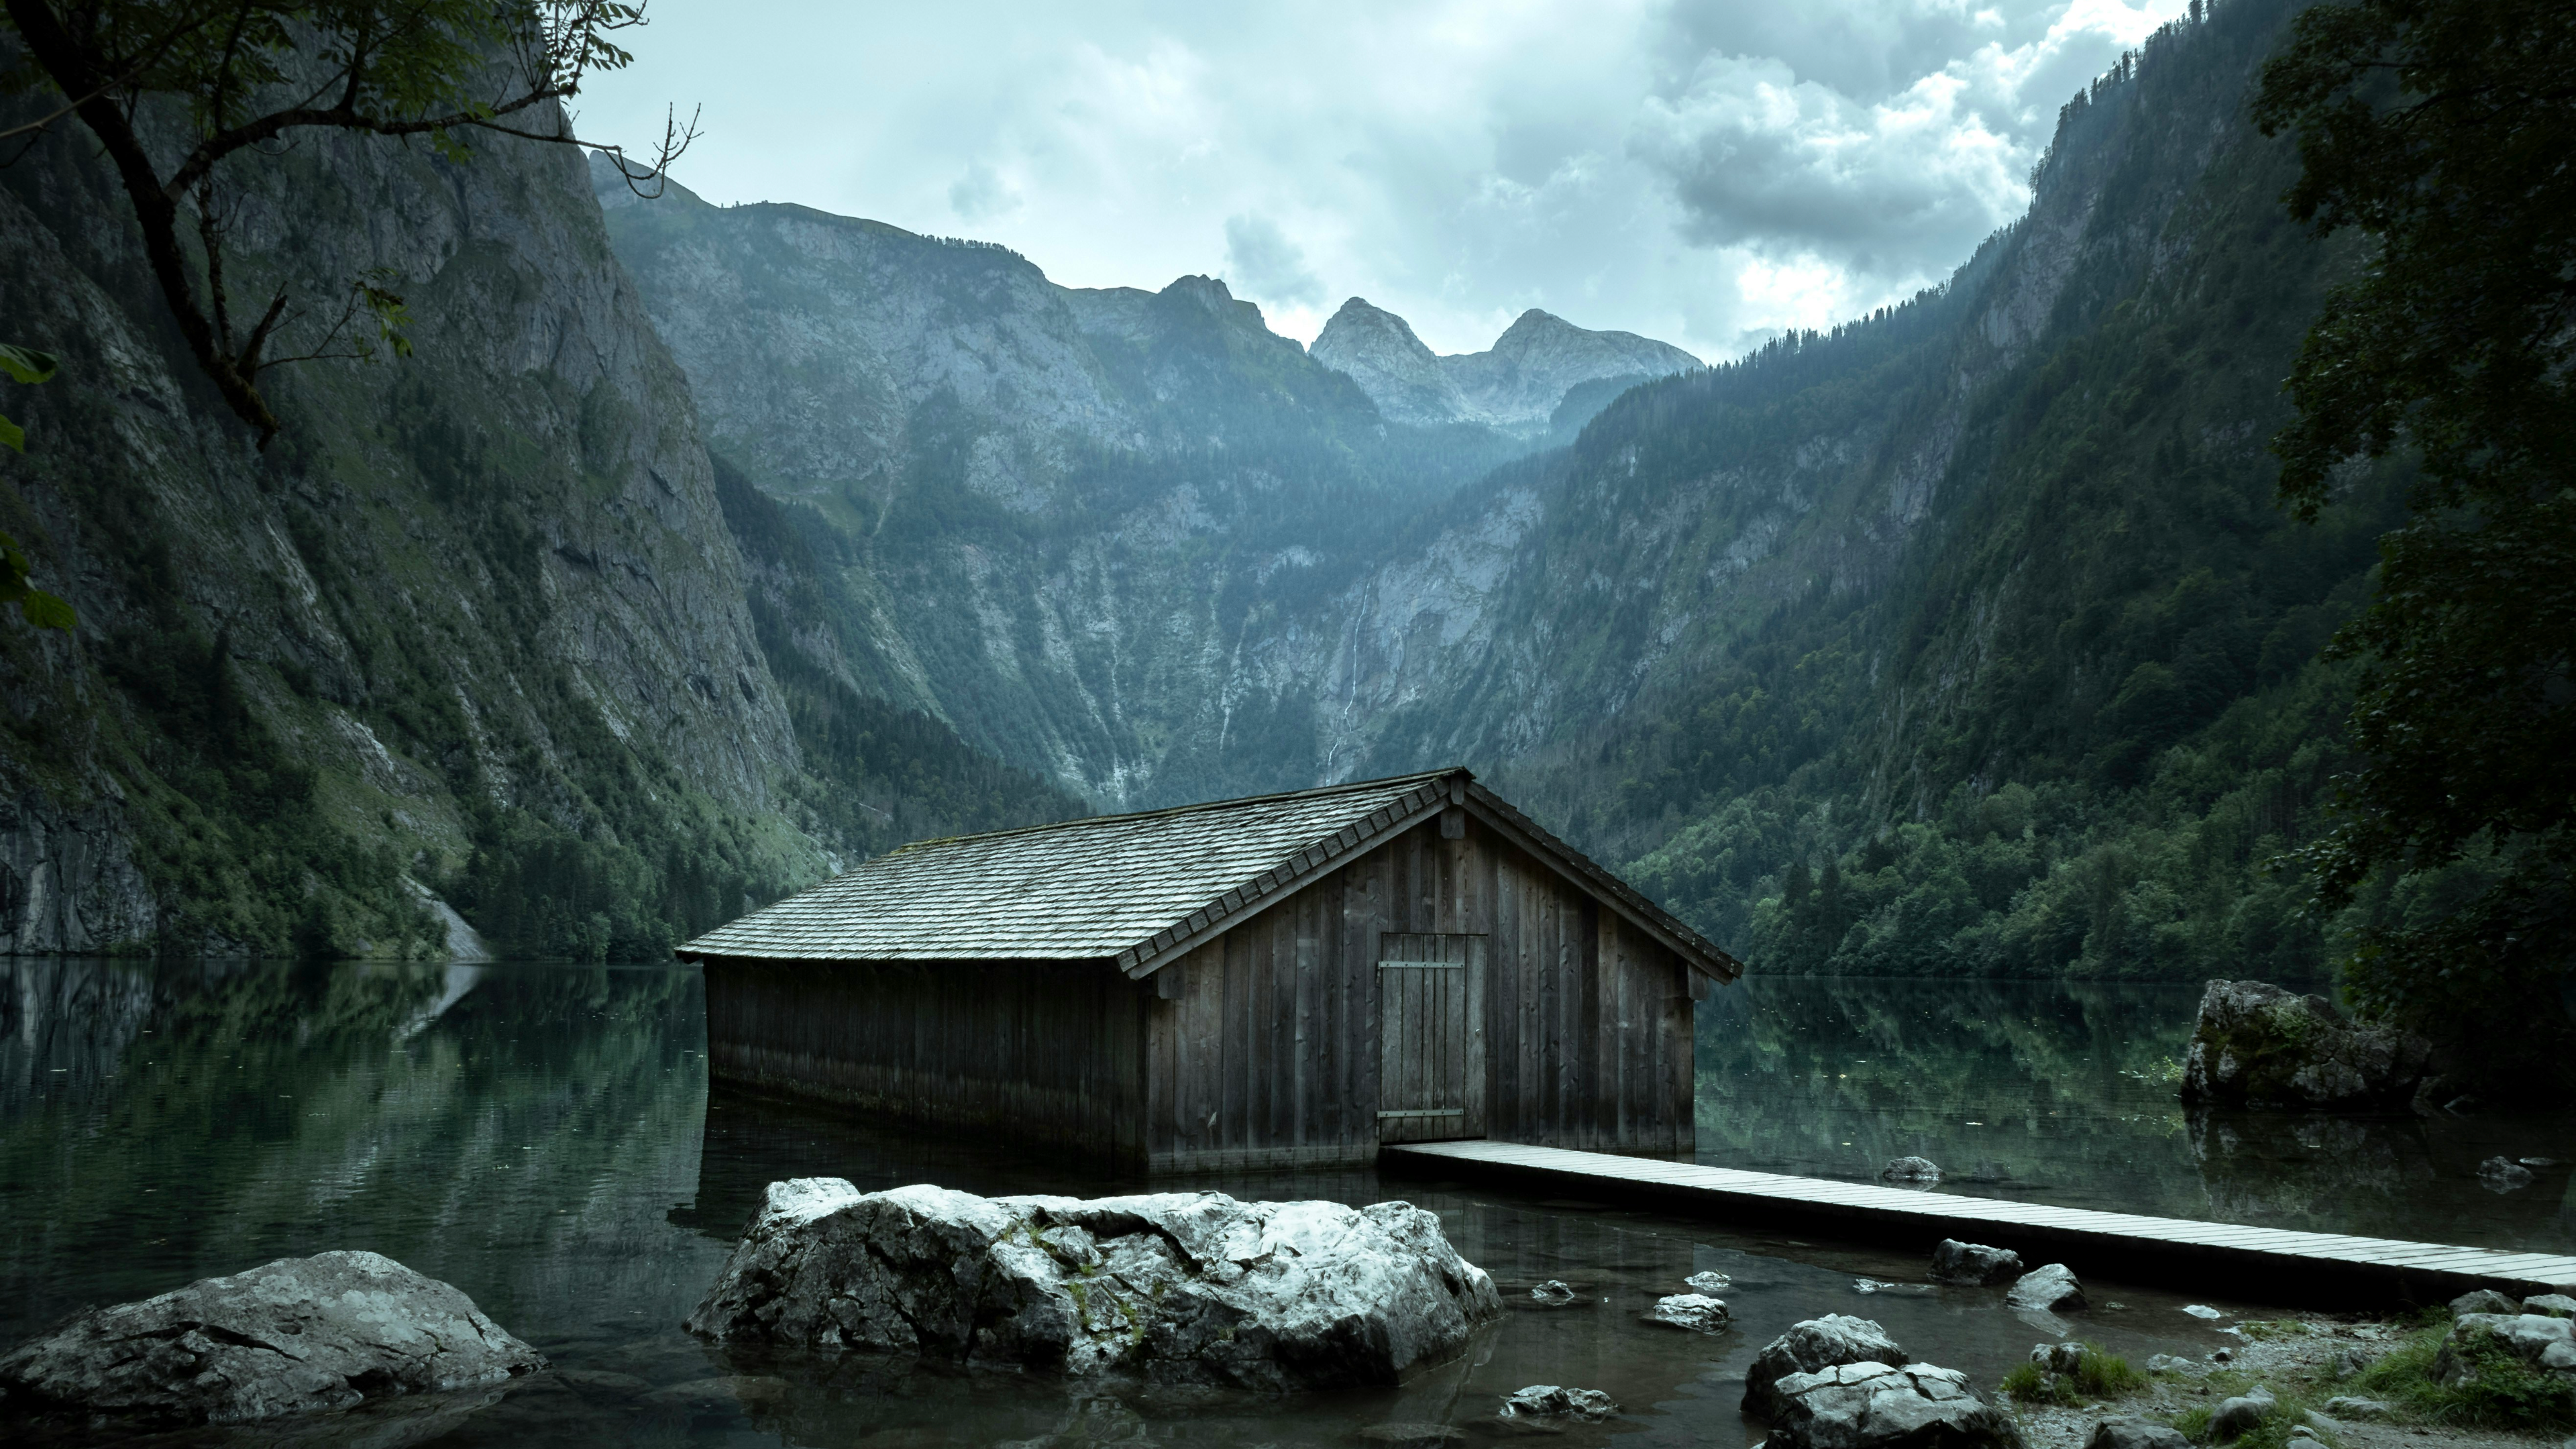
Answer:
M703 106L708 201L1213 273L1301 340L1358 294L1443 353L1546 307L1723 358L1945 278L2182 5L654 0L580 111Z

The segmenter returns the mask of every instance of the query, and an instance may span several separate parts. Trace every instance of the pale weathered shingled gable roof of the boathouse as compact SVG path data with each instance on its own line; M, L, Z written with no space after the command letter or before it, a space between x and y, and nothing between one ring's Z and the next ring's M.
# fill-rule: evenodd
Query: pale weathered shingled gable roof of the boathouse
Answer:
M680 959L1087 962L1151 975L1236 920L1461 804L1692 967L1741 967L1463 768L920 841L680 946Z

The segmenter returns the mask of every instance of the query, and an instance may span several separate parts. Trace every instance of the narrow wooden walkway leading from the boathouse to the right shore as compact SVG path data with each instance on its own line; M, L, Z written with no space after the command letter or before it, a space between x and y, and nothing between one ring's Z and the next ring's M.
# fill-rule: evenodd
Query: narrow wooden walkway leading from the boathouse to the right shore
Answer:
M2277 1292L2295 1302L2383 1307L2447 1302L2470 1289L2514 1297L2576 1292L2576 1258L2501 1248L2040 1207L1517 1142L1412 1142L1383 1147L1378 1163L1386 1171L1484 1178L1718 1222L1865 1238L1927 1256L1937 1240L1963 1238L2012 1248L2030 1266L2066 1263L2076 1276L2190 1284L2239 1297Z

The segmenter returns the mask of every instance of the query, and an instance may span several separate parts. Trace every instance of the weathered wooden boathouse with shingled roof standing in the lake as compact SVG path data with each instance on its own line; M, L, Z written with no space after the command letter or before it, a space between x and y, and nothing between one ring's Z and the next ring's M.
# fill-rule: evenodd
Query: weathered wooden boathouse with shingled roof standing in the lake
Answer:
M1687 1152L1741 972L1463 768L922 841L680 957L719 1080L1149 1171Z

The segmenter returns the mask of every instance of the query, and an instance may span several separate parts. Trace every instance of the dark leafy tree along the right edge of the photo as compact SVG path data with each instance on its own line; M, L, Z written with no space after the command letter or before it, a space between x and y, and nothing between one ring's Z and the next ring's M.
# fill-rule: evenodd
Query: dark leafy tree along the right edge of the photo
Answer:
M2329 905L2380 897L2357 998L2478 1042L2463 1057L2524 1091L2576 1088L2571 64L2576 13L2550 0L2347 0L2298 18L2254 108L2298 134L2290 209L2372 242L2290 371L2280 492L2316 518L2354 459L2421 459L2336 642L2362 660L2357 763L2306 859ZM2385 910L2409 884L2375 877L2427 874L2478 884Z

